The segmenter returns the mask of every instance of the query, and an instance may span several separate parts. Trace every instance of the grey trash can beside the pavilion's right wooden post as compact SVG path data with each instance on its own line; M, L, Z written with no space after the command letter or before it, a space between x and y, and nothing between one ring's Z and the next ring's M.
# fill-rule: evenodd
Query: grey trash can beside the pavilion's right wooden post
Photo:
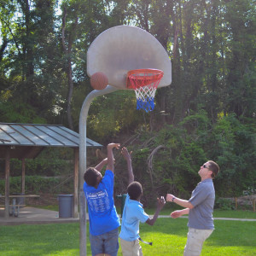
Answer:
M59 218L73 218L73 195L58 195Z

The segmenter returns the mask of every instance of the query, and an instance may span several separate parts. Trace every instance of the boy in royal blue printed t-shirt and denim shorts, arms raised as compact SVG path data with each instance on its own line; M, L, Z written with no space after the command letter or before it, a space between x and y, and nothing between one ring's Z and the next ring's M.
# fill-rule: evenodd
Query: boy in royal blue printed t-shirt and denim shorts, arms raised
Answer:
M108 144L108 159L84 172L84 195L88 204L92 256L116 256L119 250L120 220L113 204L113 148L119 146L119 143ZM106 164L105 176L102 177L99 171Z

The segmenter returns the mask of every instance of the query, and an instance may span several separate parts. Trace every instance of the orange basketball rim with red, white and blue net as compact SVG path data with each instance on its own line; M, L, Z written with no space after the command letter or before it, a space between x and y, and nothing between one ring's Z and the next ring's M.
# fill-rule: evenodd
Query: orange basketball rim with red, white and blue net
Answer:
M135 90L137 109L146 112L154 109L154 95L164 72L159 69L135 69L127 73L126 85Z

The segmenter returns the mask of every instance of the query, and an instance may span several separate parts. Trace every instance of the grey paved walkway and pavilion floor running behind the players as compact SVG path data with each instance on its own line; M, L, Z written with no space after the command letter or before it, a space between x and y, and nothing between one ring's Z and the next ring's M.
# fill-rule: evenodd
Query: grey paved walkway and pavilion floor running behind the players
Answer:
M170 215L160 215L159 218L171 218ZM182 216L181 218L188 218ZM87 216L88 219L88 216ZM256 218L214 218L223 220L256 221ZM55 224L79 222L79 218L59 218L59 212L44 210L34 207L20 209L19 217L9 216L4 218L4 209L0 208L0 225L17 224Z

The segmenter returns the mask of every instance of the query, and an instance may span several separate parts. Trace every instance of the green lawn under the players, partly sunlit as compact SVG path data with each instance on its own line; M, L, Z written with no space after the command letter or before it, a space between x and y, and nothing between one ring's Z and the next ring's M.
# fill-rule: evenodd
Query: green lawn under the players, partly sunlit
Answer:
M140 225L143 254L183 255L188 220L159 218L154 226ZM256 222L215 220L215 230L204 244L201 255L256 255ZM88 230L88 229L87 229ZM87 255L90 253L87 236ZM5 256L77 256L79 224L41 224L0 227L0 254ZM119 256L121 250L119 249Z

